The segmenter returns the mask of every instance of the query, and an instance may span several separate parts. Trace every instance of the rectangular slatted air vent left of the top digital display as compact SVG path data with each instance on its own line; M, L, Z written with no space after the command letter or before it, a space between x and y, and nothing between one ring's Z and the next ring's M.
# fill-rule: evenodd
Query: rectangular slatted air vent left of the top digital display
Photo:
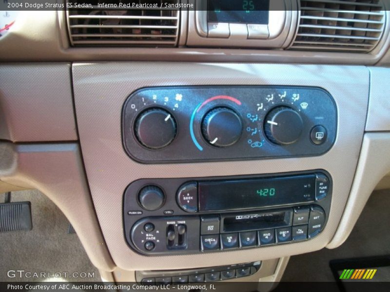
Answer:
M104 10L106 8L102 9L101 6L103 2L94 2L96 5L92 9L67 11L72 46L176 46L180 15L178 10ZM171 2L174 4L176 0L164 0L164 3Z

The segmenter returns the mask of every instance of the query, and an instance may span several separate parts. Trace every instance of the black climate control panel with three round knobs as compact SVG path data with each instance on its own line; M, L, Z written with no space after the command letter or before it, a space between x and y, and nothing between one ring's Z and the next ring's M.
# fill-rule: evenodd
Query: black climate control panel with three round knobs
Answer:
M320 155L336 138L331 95L315 87L144 88L123 107L126 152L142 163Z

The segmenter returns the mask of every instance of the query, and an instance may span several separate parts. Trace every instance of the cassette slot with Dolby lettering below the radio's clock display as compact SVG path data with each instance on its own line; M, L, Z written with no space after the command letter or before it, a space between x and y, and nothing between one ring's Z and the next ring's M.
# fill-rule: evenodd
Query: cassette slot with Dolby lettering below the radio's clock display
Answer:
M292 209L272 212L237 213L221 216L223 232L250 231L291 225Z

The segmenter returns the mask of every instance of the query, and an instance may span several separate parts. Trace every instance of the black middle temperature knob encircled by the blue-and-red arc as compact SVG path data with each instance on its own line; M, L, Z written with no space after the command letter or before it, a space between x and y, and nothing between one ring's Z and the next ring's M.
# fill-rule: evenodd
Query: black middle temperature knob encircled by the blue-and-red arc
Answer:
M202 133L206 141L213 146L231 146L241 137L241 118L231 109L215 108L203 118Z

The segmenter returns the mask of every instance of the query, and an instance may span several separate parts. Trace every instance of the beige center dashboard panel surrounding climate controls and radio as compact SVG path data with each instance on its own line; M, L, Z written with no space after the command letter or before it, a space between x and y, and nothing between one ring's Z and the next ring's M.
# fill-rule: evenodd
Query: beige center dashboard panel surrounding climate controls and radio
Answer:
M73 65L80 145L98 220L110 253L123 270L185 269L266 260L312 252L333 238L347 202L363 137L369 70L358 66L239 63L102 62ZM121 110L126 98L146 86L299 85L319 86L334 97L338 135L317 157L193 164L139 164L122 146ZM331 213L325 230L312 240L185 256L141 256L123 233L123 192L141 178L207 177L276 173L322 168L333 179ZM135 206L137 207L137 206Z

